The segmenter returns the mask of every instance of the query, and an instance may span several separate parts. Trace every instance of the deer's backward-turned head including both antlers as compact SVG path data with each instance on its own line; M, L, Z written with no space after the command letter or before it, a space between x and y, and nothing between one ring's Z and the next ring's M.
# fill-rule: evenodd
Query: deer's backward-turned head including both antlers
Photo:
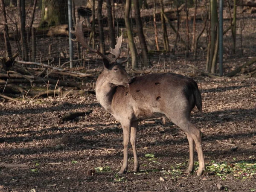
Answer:
M70 32L76 36L76 39L72 39L73 41L80 42L83 47L89 49L92 52L97 53L99 56L103 58L104 64L104 73L105 80L114 84L116 86L125 86L127 87L129 83L131 83L132 78L128 75L125 70L125 67L122 66L122 63L128 61L128 58L125 61L118 61L118 58L121 54L121 46L122 46L122 35L117 38L117 43L115 48L111 48L111 53L115 55L115 58L111 58L107 55L102 54L99 49L92 49L84 40L84 33L82 29L82 24L84 20L77 22L75 26L75 31L70 30Z

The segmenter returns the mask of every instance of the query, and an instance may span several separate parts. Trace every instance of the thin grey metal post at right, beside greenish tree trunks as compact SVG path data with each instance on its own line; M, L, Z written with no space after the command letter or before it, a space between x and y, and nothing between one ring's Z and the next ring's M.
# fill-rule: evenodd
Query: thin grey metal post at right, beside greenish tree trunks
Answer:
M220 21L219 21L219 69L220 76L223 76L223 0L219 2L219 13L220 13Z

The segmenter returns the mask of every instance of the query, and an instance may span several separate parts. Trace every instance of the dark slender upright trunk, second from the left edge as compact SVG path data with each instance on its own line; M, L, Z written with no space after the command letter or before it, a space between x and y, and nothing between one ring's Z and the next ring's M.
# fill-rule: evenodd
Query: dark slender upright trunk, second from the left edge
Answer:
M18 15L20 17L20 36L21 36L21 44L22 44L22 57L24 61L29 60L28 54L28 44L26 41L26 10L25 10L25 0L18 0Z

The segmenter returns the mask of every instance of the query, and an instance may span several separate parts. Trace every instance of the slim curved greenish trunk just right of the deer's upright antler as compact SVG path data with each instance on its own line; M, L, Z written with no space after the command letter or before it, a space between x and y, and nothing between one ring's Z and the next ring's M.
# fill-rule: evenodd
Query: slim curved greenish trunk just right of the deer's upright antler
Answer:
M137 54L134 39L132 35L131 20L130 20L131 0L126 0L125 3L125 26L127 29L128 44L131 51L131 67L137 68Z

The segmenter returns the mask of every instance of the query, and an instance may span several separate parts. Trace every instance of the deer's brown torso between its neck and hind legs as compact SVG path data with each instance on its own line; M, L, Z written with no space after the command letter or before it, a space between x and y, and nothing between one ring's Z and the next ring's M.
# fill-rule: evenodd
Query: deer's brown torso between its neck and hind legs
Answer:
M195 107L195 102L189 102L194 89L198 89L195 81L185 76L148 74L134 78L129 87L117 87L112 106L117 116L139 120L164 116L170 110L189 111Z

